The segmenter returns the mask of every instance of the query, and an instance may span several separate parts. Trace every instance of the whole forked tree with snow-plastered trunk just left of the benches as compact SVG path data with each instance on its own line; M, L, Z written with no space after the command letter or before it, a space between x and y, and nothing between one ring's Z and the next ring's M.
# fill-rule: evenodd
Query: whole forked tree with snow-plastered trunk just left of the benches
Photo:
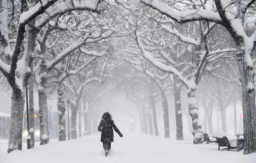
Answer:
M203 142L203 136L201 131L202 125L199 121L198 107L195 99L196 86L200 81L206 64L222 57L228 53L230 49L221 47L223 49L220 50L218 47L208 47L210 45L208 43L208 35L215 27L215 23L208 25L207 23L199 22L197 24L197 31L191 29L193 32L190 34L187 32L179 32L172 20L155 18L155 21L157 21L158 24L160 23L161 27L168 33L175 35L179 40L184 42L184 45L181 45L184 47L178 48L181 49L181 51L173 48L175 47L173 45L175 44L175 41L170 39L172 37L168 38L168 35L157 34L157 37L160 35L159 40L157 40L154 37L151 37L152 31L156 30L152 29L152 31L149 31L148 27L143 23L138 23L139 21L129 22L131 29L134 30L131 31L130 29L131 34L133 35L133 38L135 38L137 47L146 60L151 62L151 64L156 66L159 70L174 74L187 87L189 114L192 118L192 133L194 135L193 142L194 144L200 144ZM128 26L127 28L129 29ZM194 33L194 31L197 33ZM199 38L196 37L196 35L198 35ZM192 73L190 73L190 70L192 70Z

